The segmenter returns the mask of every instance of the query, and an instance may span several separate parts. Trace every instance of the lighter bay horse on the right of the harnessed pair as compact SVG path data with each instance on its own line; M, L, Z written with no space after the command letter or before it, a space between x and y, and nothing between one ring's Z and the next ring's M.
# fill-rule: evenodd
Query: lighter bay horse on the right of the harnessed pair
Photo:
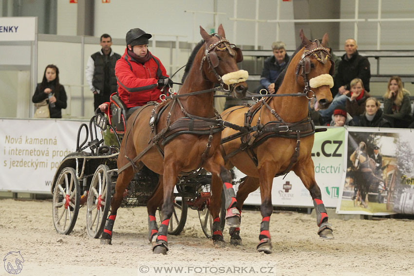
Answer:
M267 254L272 252L269 220L273 212L273 178L291 170L300 177L313 199L320 227L319 236L333 238L320 188L315 181L311 158L315 126L309 117L308 101L316 97L316 105L321 109L329 106L332 101L330 88L333 86L331 75L335 64L318 40L308 40L302 30L300 37L304 47L298 49L289 61L275 97L262 98L251 108L236 106L222 112L223 120L252 129L249 135L237 133L234 129L224 129L222 153L227 168L236 166L247 175L236 196L239 211L248 194L260 186L263 220L257 250ZM220 182L219 178L213 175L212 185L217 185L217 182ZM239 227L230 227L229 234L231 244L241 244Z

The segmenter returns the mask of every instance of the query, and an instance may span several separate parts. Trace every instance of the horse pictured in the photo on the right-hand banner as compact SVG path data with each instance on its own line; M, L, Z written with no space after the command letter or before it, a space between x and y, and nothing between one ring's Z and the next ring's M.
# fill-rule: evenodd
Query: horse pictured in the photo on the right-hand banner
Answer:
M364 208L368 207L367 195L368 190L373 180L375 171L375 161L369 157L367 152L367 145L365 142L360 142L357 149L351 154L349 160L352 162L352 174L354 177L354 185L356 194L354 200L361 201ZM359 196L358 196L359 193Z

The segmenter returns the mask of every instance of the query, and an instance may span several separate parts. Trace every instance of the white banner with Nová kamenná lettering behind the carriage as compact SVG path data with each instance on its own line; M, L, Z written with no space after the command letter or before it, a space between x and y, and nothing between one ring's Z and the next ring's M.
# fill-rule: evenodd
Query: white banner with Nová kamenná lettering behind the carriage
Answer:
M82 122L0 119L0 190L50 193L60 161L75 151Z

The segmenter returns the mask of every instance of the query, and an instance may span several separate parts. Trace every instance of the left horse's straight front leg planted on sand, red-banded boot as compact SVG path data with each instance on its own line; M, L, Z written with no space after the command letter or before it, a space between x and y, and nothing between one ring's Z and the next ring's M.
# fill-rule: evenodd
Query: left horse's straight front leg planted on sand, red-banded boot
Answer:
M175 167L176 162L165 162L164 166L164 176L163 176L163 187L162 190L164 203L161 208L162 221L160 228L158 230L157 239L153 242L152 252L155 254L167 254L168 241L168 225L169 219L171 218L172 212L174 210L174 186L177 182L178 171ZM171 165L170 165L171 164Z

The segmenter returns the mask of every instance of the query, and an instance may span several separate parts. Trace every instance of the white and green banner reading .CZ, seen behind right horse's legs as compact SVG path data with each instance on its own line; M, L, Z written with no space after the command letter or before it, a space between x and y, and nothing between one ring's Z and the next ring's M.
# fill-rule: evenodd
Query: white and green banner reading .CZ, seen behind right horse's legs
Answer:
M312 160L315 165L315 180L322 194L322 200L326 207L336 207L339 198L339 186L343 167L345 128L328 128L327 131L315 134L315 142L312 148ZM245 175L235 169L236 180ZM237 190L238 185L235 186ZM251 193L245 203L260 205L261 197L259 189ZM302 184L299 177L293 171L284 178L279 176L273 179L272 203L275 206L301 206L313 207L309 191Z

